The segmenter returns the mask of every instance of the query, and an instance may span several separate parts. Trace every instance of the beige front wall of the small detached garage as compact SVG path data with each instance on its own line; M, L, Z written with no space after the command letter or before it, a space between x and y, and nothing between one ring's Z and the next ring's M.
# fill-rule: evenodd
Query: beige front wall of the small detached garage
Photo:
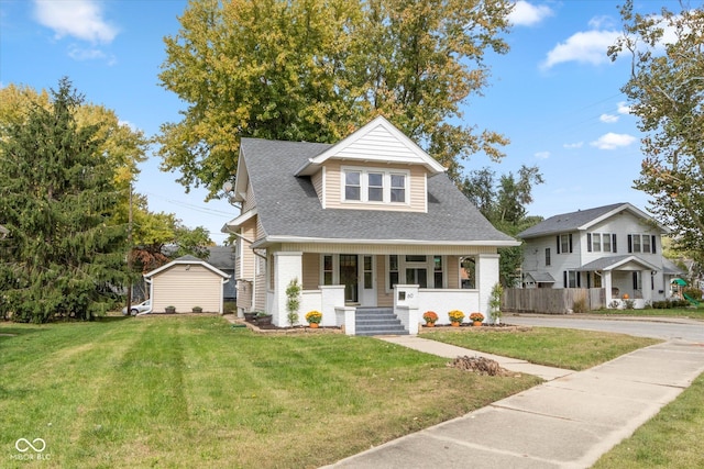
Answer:
M153 311L176 306L177 313L189 313L194 306L219 313L222 301L222 277L199 265L175 265L153 277Z

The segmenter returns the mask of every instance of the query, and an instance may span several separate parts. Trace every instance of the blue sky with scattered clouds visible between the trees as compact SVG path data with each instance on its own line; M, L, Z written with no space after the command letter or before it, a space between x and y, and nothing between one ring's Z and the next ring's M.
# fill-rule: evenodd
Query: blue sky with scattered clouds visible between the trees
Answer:
M483 155L466 169L490 166L497 176L538 165L546 183L535 188L534 215L631 202L647 197L631 188L642 156L636 119L619 88L626 59L612 63L606 48L618 35L620 0L518 1L507 35L510 52L490 55L491 86L473 97L463 121L506 135L501 164ZM697 4L700 2L696 2ZM183 104L158 86L163 37L178 32L186 0L0 0L0 86L55 88L68 76L96 104L143 130L158 132L178 120ZM636 0L641 13L674 0ZM186 193L178 175L158 171L153 156L142 165L136 190L153 211L173 212L188 226L207 227L221 244L223 223L238 213L224 201Z

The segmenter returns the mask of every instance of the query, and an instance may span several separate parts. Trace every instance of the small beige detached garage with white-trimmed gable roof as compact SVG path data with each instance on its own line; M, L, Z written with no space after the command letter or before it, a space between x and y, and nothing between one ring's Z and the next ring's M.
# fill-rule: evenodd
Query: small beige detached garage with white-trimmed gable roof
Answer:
M222 314L222 289L229 278L195 256L179 257L144 273L153 313L163 313L167 306L175 306L177 313L190 313L199 306L206 313Z

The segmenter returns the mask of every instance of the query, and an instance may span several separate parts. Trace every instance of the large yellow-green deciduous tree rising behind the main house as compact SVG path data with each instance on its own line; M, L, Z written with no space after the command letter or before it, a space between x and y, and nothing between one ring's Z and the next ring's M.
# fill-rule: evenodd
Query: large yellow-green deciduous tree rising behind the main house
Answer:
M160 136L165 169L216 197L243 136L333 143L384 114L458 177L506 139L461 124L506 53L508 0L191 0L160 78L187 109Z

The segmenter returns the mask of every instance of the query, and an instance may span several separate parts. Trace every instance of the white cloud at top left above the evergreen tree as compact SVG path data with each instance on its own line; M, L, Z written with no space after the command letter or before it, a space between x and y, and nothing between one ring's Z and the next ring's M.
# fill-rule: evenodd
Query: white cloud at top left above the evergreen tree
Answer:
M105 21L99 3L94 0L34 0L34 16L53 30L57 38L72 36L109 44L118 35L118 29Z

